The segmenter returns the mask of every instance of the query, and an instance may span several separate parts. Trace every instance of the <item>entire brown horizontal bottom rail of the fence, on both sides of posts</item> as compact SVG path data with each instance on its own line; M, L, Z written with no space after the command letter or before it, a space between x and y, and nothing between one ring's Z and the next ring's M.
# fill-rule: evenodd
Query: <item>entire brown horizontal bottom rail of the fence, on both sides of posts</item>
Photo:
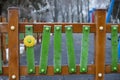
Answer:
M68 72L68 66L62 66L62 72L59 75L70 75ZM77 75L80 74L95 74L95 65L88 65L88 72L87 73L80 73L79 71L80 66L77 65L76 66L76 73ZM39 66L35 67L36 73L32 74L31 76L40 76L41 74L39 74ZM3 66L3 73L0 76L8 76L8 67L7 66ZM118 71L117 72L112 72L111 70L111 65L106 65L105 66L105 74L111 74L111 73L120 73L120 64L118 65ZM20 76L28 76L30 74L28 74L27 72L27 66L20 66ZM53 66L48 66L48 71L47 74L49 76L53 76L53 75L58 75L58 74L54 74L54 67Z

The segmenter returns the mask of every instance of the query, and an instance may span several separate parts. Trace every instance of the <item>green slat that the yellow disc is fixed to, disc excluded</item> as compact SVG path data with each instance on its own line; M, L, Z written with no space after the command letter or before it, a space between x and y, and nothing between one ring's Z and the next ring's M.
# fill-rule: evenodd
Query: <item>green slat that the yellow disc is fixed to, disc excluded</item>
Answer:
M33 35L33 25L25 25L25 35ZM34 47L26 47L28 73L35 73Z

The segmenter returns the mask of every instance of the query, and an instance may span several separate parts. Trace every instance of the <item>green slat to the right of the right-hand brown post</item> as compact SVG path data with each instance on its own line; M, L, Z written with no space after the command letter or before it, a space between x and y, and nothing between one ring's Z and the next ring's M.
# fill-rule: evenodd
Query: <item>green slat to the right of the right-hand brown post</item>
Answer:
M111 44L112 44L112 71L118 70L118 26L111 26Z

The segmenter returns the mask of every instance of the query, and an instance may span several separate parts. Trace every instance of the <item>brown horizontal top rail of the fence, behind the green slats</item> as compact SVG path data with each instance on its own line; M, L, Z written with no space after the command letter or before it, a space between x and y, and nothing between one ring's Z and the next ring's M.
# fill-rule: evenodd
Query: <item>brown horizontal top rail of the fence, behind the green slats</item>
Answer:
M52 32L53 32L53 27L54 25L62 25L62 26L65 26L65 25L73 25L74 27L74 32L75 33L79 33L79 32L82 32L82 26L83 25L89 25L91 27L91 30L90 32L92 33L95 33L96 31L96 24L95 23L26 23L26 22L20 22L19 23L19 27L20 27L20 32L25 32L25 25L34 25L34 26L37 26L37 27L34 27L34 32L42 32L42 29L43 29L43 25L49 25L49 26L52 26ZM106 32L107 33L110 33L111 32L111 25L118 25L118 32L120 32L120 24L106 24ZM42 27L40 29L40 27ZM7 22L0 22L0 32L7 32L7 27L8 27L8 23ZM65 29L62 29L63 32L65 32Z

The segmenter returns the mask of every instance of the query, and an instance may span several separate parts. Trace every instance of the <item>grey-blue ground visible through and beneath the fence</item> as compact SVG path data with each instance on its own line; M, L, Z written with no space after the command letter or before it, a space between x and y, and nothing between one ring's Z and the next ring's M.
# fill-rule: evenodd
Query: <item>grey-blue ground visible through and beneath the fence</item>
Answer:
M108 36L108 35L107 35ZM48 65L53 65L53 36L50 40L50 50ZM62 35L62 65L67 64L67 49L66 49L66 39L65 34ZM111 41L107 40L106 44L106 64L111 63ZM74 46L76 55L76 64L80 63L80 51L81 51L81 34L74 34ZM35 64L39 65L40 58L40 44L35 46ZM20 64L26 65L26 55L25 53L20 56ZM94 64L94 35L90 34L90 46L89 46L89 58L88 64ZM0 80L8 80L8 77L2 77ZM68 76L22 76L20 80L94 80L94 75L68 75ZM105 80L120 80L120 74L105 74Z

